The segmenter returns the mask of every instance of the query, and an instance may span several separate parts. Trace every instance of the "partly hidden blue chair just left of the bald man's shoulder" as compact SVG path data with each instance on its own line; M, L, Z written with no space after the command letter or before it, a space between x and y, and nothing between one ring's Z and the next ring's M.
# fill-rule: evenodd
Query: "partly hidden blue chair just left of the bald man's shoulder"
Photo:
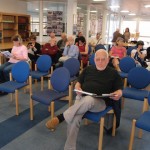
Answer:
M71 90L73 91L74 83L77 80L77 74L79 74L80 71L79 60L75 58L69 58L64 62L63 67L67 68L70 73L70 85L71 85ZM71 99L72 98L73 98L73 94L71 93ZM70 103L70 105L72 105L72 103Z

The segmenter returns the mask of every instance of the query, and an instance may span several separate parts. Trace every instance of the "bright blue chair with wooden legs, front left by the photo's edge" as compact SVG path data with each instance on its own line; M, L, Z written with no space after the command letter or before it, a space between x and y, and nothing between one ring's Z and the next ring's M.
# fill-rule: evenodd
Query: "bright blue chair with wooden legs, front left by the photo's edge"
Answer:
M10 73L10 81L0 84L0 91L11 94L15 93L16 115L19 115L18 90L29 86L31 93L32 81L29 74L29 64L27 62L20 61L13 66Z

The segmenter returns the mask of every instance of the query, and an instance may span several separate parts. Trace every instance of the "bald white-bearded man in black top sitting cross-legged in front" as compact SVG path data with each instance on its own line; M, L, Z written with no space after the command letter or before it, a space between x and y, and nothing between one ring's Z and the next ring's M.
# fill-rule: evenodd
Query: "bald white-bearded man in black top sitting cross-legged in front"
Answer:
M64 150L76 150L76 140L83 115L87 111L103 111L107 106L112 106L116 114L117 123L120 123L120 101L122 96L122 80L118 72L108 65L109 55L107 51L100 49L95 53L96 66L88 66L78 77L75 89L95 93L97 95L110 94L107 98L96 98L82 95L77 92L75 104L69 107L63 114L54 117L46 123L46 127L54 130L62 121L68 124L67 140Z

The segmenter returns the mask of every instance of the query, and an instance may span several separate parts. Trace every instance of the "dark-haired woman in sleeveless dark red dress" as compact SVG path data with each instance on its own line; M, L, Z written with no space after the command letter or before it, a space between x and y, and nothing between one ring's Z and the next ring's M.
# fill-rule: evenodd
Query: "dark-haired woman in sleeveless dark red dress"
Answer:
M83 62L83 67L87 65L88 62L88 45L86 44L86 40L83 36L79 37L78 48L81 56L81 60Z

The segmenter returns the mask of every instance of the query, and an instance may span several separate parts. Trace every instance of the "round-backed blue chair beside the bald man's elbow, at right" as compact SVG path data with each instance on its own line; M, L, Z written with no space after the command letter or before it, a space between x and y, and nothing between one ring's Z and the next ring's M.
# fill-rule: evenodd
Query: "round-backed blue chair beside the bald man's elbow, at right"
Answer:
M144 111L145 107L147 107L145 103L149 95L149 91L145 88L150 84L150 72L143 67L135 67L129 71L127 80L131 87L123 89L123 97L144 101Z

